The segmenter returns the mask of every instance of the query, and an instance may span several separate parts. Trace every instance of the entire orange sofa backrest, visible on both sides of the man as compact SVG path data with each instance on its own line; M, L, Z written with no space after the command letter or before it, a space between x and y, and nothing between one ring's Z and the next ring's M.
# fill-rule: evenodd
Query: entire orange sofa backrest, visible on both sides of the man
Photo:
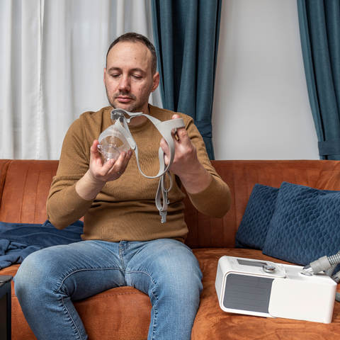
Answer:
M0 221L45 222L47 195L57 166L58 161L0 159ZM191 248L234 247L237 227L256 183L278 188L287 181L340 191L338 161L212 161L212 166L228 184L232 205L225 217L217 219L198 212L186 198L186 244Z

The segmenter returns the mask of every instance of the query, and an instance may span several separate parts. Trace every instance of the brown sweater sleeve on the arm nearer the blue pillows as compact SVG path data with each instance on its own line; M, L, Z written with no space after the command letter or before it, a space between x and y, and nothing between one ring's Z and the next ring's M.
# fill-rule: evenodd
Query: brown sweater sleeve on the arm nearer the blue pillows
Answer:
M205 149L203 138L198 132L193 120L189 120L186 126L191 142L196 146L198 159L205 169L211 174L207 188L199 193L188 193L191 203L195 208L210 217L222 218L230 208L231 194L227 183L222 181L215 168L210 163Z

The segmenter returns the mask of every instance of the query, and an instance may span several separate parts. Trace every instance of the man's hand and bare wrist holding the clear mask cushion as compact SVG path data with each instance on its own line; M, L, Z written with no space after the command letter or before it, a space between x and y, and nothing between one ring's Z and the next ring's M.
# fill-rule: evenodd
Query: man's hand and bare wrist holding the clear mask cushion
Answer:
M95 140L91 146L89 170L76 184L77 193L86 200L96 198L106 182L119 179L132 156L132 151L129 150L128 152L122 152L116 161L115 159L110 159L108 162L103 163L103 159L98 152L98 144L98 140Z

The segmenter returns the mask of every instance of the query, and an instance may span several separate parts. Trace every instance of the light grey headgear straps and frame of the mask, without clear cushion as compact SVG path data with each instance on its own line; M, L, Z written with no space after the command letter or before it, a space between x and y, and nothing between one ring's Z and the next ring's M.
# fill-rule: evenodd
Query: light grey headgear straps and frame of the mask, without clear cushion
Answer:
M129 115L130 118L127 118L125 114ZM166 141L166 143L169 145L170 156L169 156L169 164L167 166L165 166L165 163L164 163L164 151L162 150L162 147L159 147L159 151L158 151L159 172L156 176L147 176L143 173L142 169L140 169L140 162L138 160L138 147L128 127L128 123L130 123L130 120L133 117L137 117L140 115L144 115L149 120L151 120L151 122L154 124L157 130L159 130L162 137L164 137L164 140ZM171 132L172 130L177 129L177 128L185 128L183 119L177 118L177 119L172 119L172 120L165 120L164 122L162 122L161 120L158 120L157 118L154 118L151 115L146 115L145 113L141 113L141 112L132 113L132 112L125 111L121 108L115 108L113 111L111 111L111 120L115 120L115 127L126 138L126 140L128 140L128 143L131 149L135 150L137 165L138 165L138 169L140 169L140 173L143 176L147 177L148 179L156 179L157 177L160 177L159 185L158 185L158 189L156 193L156 206L157 206L157 209L159 210L159 215L161 215L162 217L161 222L162 223L166 222L166 212L167 212L167 208L169 205L168 192L172 188L172 177L169 174L169 168L172 162L174 162L174 157L175 157L175 144L174 144L174 139L171 135ZM166 188L165 186L166 174L169 176L169 179L170 179L169 188ZM163 204L162 204L161 197L163 197Z

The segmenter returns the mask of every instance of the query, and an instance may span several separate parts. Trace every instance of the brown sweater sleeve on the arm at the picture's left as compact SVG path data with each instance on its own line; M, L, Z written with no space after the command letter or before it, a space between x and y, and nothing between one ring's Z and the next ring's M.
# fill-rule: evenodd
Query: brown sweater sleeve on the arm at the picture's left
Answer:
M79 220L93 203L93 200L81 198L75 188L89 169L89 147L79 118L72 123L64 138L57 175L47 198L47 218L58 229Z

